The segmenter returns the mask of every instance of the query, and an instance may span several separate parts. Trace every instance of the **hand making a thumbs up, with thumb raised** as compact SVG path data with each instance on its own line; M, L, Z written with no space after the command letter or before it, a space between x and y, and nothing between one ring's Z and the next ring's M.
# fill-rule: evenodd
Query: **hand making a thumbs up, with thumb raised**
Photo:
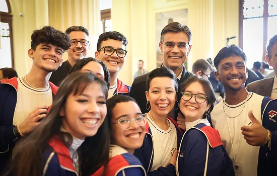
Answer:
M252 111L248 112L248 117L252 121L252 126L242 126L242 135L249 145L262 146L266 141L267 130L255 118Z

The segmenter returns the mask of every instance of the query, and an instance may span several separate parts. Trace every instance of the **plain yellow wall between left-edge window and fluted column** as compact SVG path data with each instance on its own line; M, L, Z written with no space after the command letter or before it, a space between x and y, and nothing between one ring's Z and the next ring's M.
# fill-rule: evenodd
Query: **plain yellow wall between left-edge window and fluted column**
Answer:
M31 35L35 29L48 25L47 0L10 0L13 15L15 69L19 76L28 73L32 59L28 56Z

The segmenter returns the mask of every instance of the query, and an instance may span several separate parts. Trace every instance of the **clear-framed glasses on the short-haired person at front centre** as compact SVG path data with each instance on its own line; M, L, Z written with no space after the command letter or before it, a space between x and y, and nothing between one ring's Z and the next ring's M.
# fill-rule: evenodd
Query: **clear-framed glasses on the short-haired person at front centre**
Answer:
M119 124L122 130L129 130L132 127L133 121L135 121L135 123L140 127L145 126L147 122L146 114L139 115L134 119L123 117L118 119L117 122L112 124Z

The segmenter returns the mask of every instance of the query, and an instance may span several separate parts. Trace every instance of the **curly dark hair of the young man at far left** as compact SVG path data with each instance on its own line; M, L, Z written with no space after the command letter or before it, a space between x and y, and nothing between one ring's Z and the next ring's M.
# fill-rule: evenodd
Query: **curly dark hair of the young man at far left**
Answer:
M33 50L36 50L40 43L55 45L62 48L63 51L71 46L70 37L51 26L44 26L41 29L34 30L31 40L31 48Z

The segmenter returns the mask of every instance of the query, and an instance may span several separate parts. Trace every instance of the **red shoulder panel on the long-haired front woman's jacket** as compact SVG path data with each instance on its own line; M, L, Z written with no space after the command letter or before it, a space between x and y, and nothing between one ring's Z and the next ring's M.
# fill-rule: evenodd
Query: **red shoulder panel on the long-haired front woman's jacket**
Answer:
M70 156L70 152L60 138L56 135L53 136L48 144L54 149L58 156L59 164L66 170L73 171L77 174L75 167L73 166L73 160Z

